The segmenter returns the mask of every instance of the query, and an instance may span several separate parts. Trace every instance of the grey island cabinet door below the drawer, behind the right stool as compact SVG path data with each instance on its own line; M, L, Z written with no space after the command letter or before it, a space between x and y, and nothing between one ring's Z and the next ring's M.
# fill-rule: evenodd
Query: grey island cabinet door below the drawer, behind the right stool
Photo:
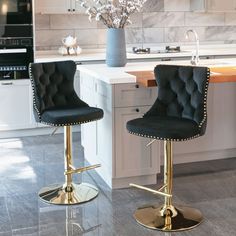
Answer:
M115 109L116 177L159 172L159 142L147 147L151 139L129 134L126 129L127 121L141 117L148 109L149 106Z

